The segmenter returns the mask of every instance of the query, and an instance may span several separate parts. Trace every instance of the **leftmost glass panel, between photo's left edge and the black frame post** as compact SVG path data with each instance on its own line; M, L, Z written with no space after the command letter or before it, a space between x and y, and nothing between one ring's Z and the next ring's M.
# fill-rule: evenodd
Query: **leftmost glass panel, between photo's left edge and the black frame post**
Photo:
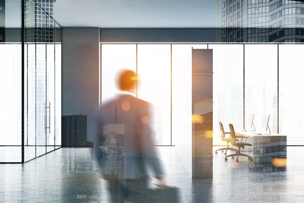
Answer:
M0 163L22 161L21 4L1 1Z

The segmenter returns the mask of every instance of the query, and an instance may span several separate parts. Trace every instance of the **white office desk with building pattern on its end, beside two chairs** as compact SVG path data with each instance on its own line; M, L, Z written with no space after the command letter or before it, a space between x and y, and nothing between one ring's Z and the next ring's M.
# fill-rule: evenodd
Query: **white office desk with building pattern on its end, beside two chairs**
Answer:
M282 134L254 134L254 131L236 131L236 136L244 136L242 142L249 143L252 147L245 146L241 153L246 153L253 158L255 170L263 173L285 171L286 167L275 167L273 158L287 158L287 136ZM237 138L241 142L241 138ZM234 147L234 146L232 146ZM237 148L236 148L237 149Z

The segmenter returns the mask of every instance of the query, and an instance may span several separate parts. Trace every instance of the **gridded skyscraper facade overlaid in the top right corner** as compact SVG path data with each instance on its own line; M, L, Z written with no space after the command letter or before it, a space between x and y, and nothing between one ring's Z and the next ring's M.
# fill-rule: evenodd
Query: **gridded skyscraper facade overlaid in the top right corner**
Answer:
M304 42L304 2L222 0L222 42Z

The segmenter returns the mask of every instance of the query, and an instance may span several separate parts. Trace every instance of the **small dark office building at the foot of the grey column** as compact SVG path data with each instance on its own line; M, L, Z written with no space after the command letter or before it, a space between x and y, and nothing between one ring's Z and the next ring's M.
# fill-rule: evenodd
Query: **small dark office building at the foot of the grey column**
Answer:
M62 147L86 147L87 145L87 116L62 116Z

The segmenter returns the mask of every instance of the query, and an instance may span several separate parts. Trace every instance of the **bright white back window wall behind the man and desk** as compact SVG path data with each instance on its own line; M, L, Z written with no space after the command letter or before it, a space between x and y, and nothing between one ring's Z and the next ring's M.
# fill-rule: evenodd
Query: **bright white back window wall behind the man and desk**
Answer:
M102 44L102 100L117 93L118 70L137 70L141 80L137 96L154 105L159 121L157 145L174 145L175 138L191 134L192 48L213 50L213 145L226 144L220 140L218 122L225 131L230 123L241 130L251 126L253 114L256 130L265 131L263 116L270 115L272 133L286 134L288 145L304 145L300 130L304 112L295 88L301 84L298 67L304 45Z

